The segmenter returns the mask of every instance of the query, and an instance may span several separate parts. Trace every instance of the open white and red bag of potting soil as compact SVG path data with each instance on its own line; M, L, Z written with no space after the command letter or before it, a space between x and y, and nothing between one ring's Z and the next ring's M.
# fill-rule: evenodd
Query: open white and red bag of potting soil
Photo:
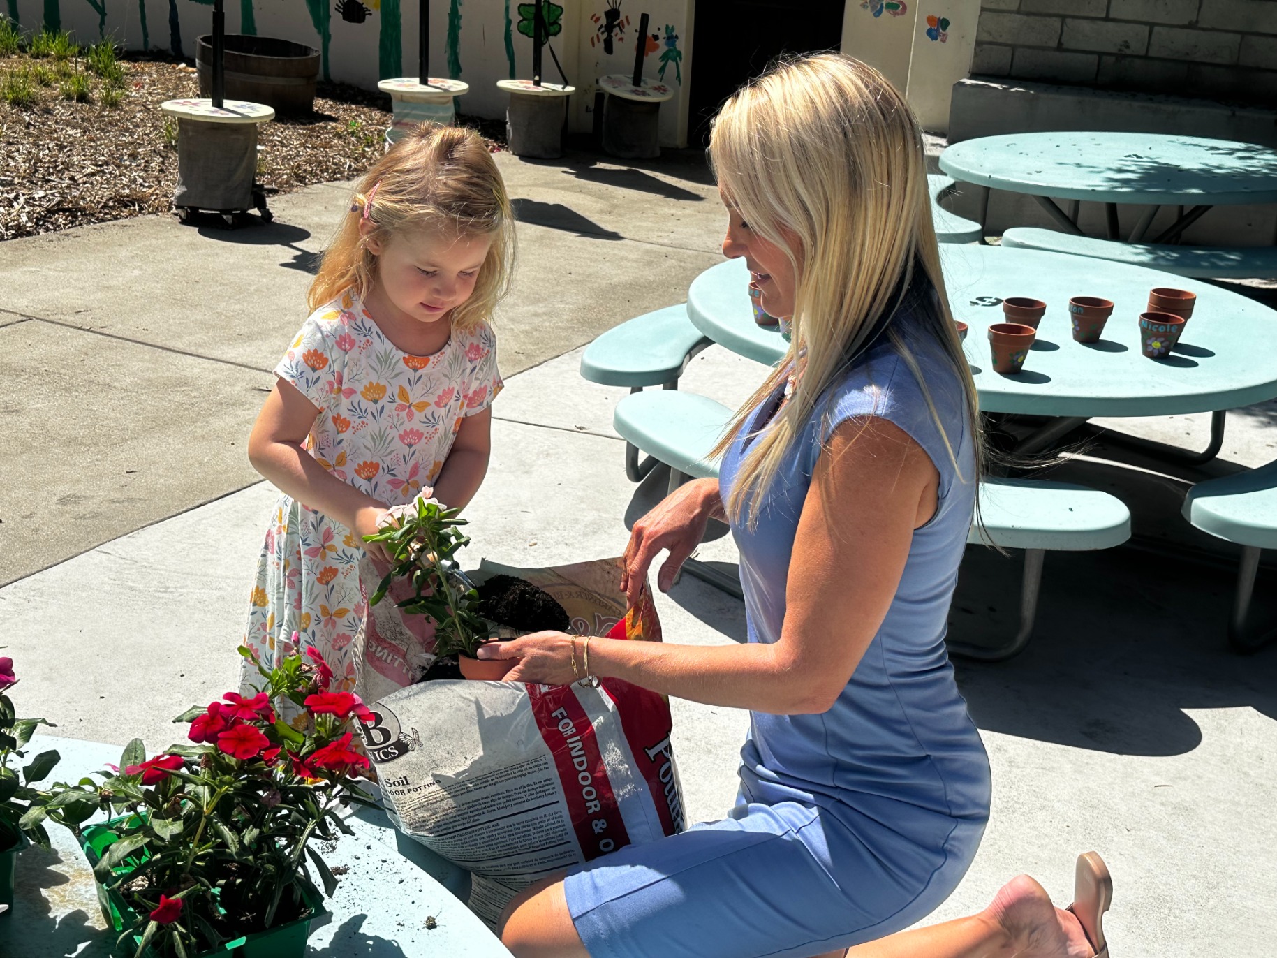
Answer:
M621 561L521 570L484 562L476 581L540 586L572 631L660 641L650 597L626 611ZM604 639L595 639L595 642ZM407 835L472 875L470 908L495 925L548 875L683 829L664 696L596 687L429 681L374 703L363 727L387 811Z

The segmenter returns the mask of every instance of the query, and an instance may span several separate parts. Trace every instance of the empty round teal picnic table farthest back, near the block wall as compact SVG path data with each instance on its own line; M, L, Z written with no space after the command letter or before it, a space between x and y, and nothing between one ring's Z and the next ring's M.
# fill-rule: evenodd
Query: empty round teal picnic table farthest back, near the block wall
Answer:
M1032 195L1065 232L1078 229L1078 203L1103 203L1108 239L1117 204L1147 206L1129 243L1144 240L1162 206L1189 207L1152 243L1174 241L1214 206L1277 203L1277 151L1254 143L1157 133L1011 133L954 143L940 169L955 180ZM1070 211L1055 199L1070 201ZM985 190L981 225L988 204Z

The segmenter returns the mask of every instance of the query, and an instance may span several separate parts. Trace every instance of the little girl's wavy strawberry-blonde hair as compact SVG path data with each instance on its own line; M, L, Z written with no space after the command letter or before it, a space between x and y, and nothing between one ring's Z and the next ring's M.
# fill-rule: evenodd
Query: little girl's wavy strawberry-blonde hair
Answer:
M368 236L359 229L365 213L373 224ZM368 240L375 236L384 243L410 230L493 238L474 294L452 310L451 322L465 332L490 318L510 289L515 261L515 217L506 184L478 133L434 123L405 134L359 181L350 212L310 284L310 309L351 287L365 296L377 276L377 255Z

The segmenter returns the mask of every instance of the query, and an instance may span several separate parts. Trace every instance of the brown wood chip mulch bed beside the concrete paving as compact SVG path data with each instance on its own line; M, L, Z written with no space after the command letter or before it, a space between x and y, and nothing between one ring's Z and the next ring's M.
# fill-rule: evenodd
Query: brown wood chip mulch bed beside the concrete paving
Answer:
M0 77L24 61L0 56ZM160 103L199 96L195 69L134 55L121 65L119 106L100 102L96 79L87 103L60 98L56 86L37 88L28 107L0 101L0 240L171 209L176 129ZM382 156L389 116L388 97L321 83L312 115L262 126L258 181L269 195L352 179Z

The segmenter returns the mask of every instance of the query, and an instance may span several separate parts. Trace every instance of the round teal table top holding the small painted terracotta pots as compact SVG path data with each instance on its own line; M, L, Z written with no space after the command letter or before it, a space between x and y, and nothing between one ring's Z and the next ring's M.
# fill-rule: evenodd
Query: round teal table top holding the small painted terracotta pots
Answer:
M954 318L967 323L965 351L986 413L1046 416L1153 416L1237 409L1277 396L1277 313L1198 280L1061 253L999 247L940 247ZM697 276L687 316L715 342L760 363L775 363L788 345L760 328L747 293L743 259ZM1139 314L1154 286L1197 294L1184 336L1165 360L1139 347ZM1006 296L1047 304L1024 370L992 370L987 330L1004 322ZM1114 314L1099 342L1074 342L1073 296L1103 296Z

